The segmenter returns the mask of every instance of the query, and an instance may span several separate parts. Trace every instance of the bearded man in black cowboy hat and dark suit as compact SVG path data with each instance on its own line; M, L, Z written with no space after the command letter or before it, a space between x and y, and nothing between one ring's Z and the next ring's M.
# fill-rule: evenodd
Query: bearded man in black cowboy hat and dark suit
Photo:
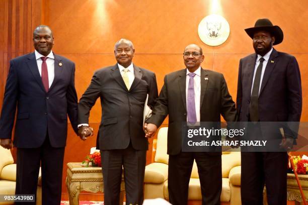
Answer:
M282 30L273 26L268 19L259 19L255 27L245 31L253 39L256 53L240 60L237 93L239 121L299 122L302 95L297 61L294 56L273 48L273 45L282 42ZM253 129L257 133L255 137L263 133L260 126ZM279 131L273 135L278 137ZM285 136L280 146L289 150L296 136L288 132ZM242 204L263 204L264 183L268 204L286 204L287 163L285 151L242 151Z

